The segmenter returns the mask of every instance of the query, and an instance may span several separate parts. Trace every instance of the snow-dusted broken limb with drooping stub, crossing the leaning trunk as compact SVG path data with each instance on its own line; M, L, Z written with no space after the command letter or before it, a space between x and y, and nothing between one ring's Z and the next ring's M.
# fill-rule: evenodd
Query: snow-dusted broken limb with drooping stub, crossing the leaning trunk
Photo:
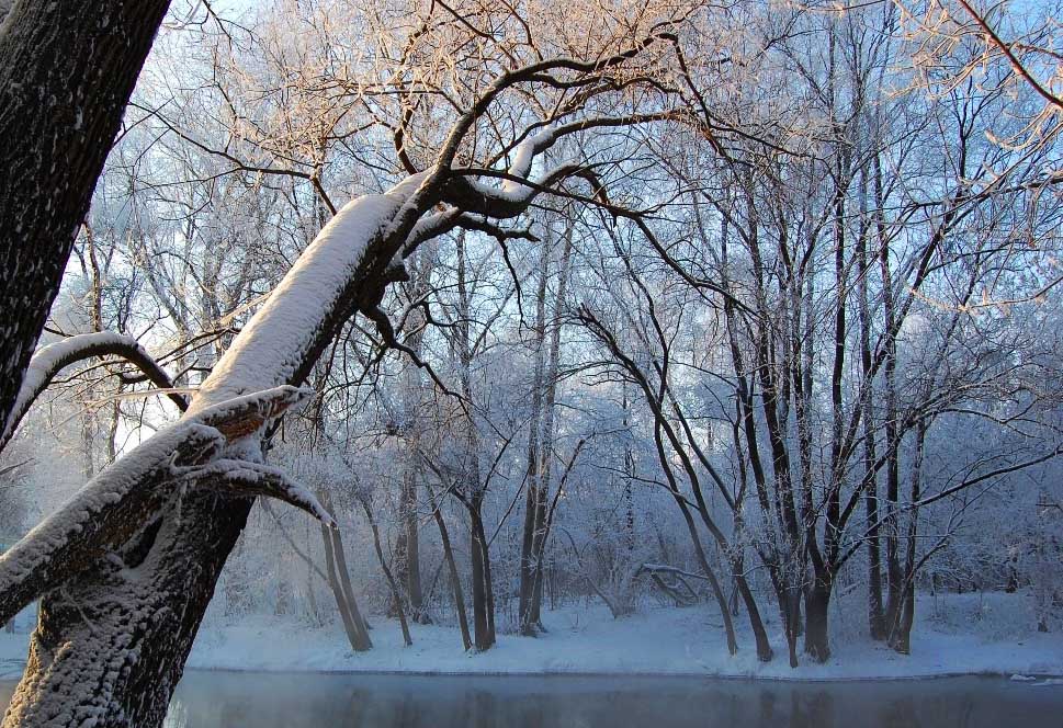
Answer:
M172 502L177 481L212 473L223 450L302 401L306 390L283 386L202 410L159 431L90 480L58 511L0 555L0 623L110 553L118 551ZM267 494L321 517L302 489L270 469L233 460L214 468L226 492ZM253 484L252 481L258 481Z

